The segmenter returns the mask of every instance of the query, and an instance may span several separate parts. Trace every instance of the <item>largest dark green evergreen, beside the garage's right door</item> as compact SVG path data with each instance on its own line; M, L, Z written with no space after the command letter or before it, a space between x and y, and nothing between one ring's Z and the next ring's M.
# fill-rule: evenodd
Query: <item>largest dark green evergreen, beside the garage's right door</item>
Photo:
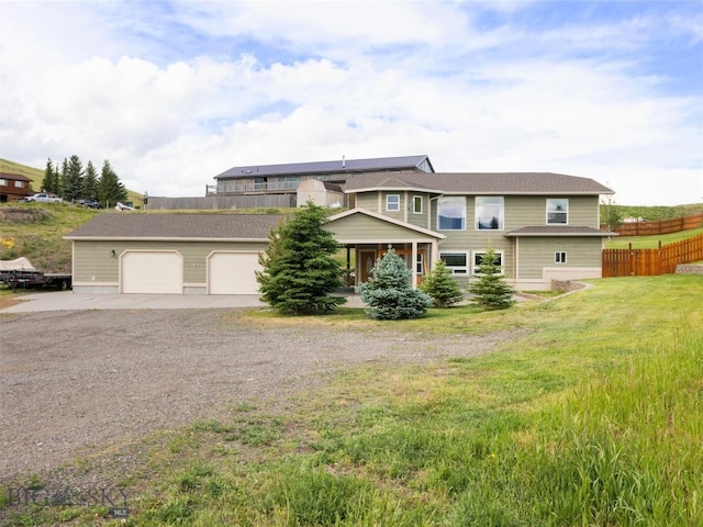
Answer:
M256 273L264 301L281 313L312 314L334 310L346 302L330 293L343 284L342 269L333 255L339 244L322 226L324 209L308 201L270 235Z

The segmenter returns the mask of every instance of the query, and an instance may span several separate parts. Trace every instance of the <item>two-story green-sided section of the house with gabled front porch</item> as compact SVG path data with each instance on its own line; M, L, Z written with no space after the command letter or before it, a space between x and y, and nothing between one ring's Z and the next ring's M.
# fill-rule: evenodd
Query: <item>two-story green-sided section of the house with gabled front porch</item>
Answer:
M489 246L517 289L601 277L600 195L613 191L559 173L386 173L346 181L349 210L326 228L354 251L357 281L392 245L419 284L437 259L468 281ZM414 264L413 264L414 262Z

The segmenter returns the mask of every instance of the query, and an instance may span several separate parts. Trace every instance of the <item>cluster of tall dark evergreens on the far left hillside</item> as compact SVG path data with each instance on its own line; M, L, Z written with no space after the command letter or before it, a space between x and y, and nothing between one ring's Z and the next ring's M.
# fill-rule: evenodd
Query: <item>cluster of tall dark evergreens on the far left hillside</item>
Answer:
M60 195L66 201L96 200L103 206L118 201L126 201L127 189L112 169L109 160L104 160L100 173L92 161L83 167L76 155L64 162L54 164L49 158L44 169L42 191Z

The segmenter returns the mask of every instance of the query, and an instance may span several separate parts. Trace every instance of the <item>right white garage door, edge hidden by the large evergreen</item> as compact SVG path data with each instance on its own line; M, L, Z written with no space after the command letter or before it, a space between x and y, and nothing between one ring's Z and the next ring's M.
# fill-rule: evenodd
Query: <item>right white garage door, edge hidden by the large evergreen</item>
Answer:
M213 253L208 259L208 292L258 294L255 271L260 269L257 253Z

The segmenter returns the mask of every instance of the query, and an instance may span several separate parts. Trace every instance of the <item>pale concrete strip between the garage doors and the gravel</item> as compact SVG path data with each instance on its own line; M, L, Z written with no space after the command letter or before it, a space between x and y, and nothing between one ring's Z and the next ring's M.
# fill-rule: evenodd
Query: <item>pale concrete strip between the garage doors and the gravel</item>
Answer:
M348 307L362 307L358 294L341 293ZM0 313L34 313L72 310L199 310L264 307L257 294L91 294L45 291L21 296L22 302Z

